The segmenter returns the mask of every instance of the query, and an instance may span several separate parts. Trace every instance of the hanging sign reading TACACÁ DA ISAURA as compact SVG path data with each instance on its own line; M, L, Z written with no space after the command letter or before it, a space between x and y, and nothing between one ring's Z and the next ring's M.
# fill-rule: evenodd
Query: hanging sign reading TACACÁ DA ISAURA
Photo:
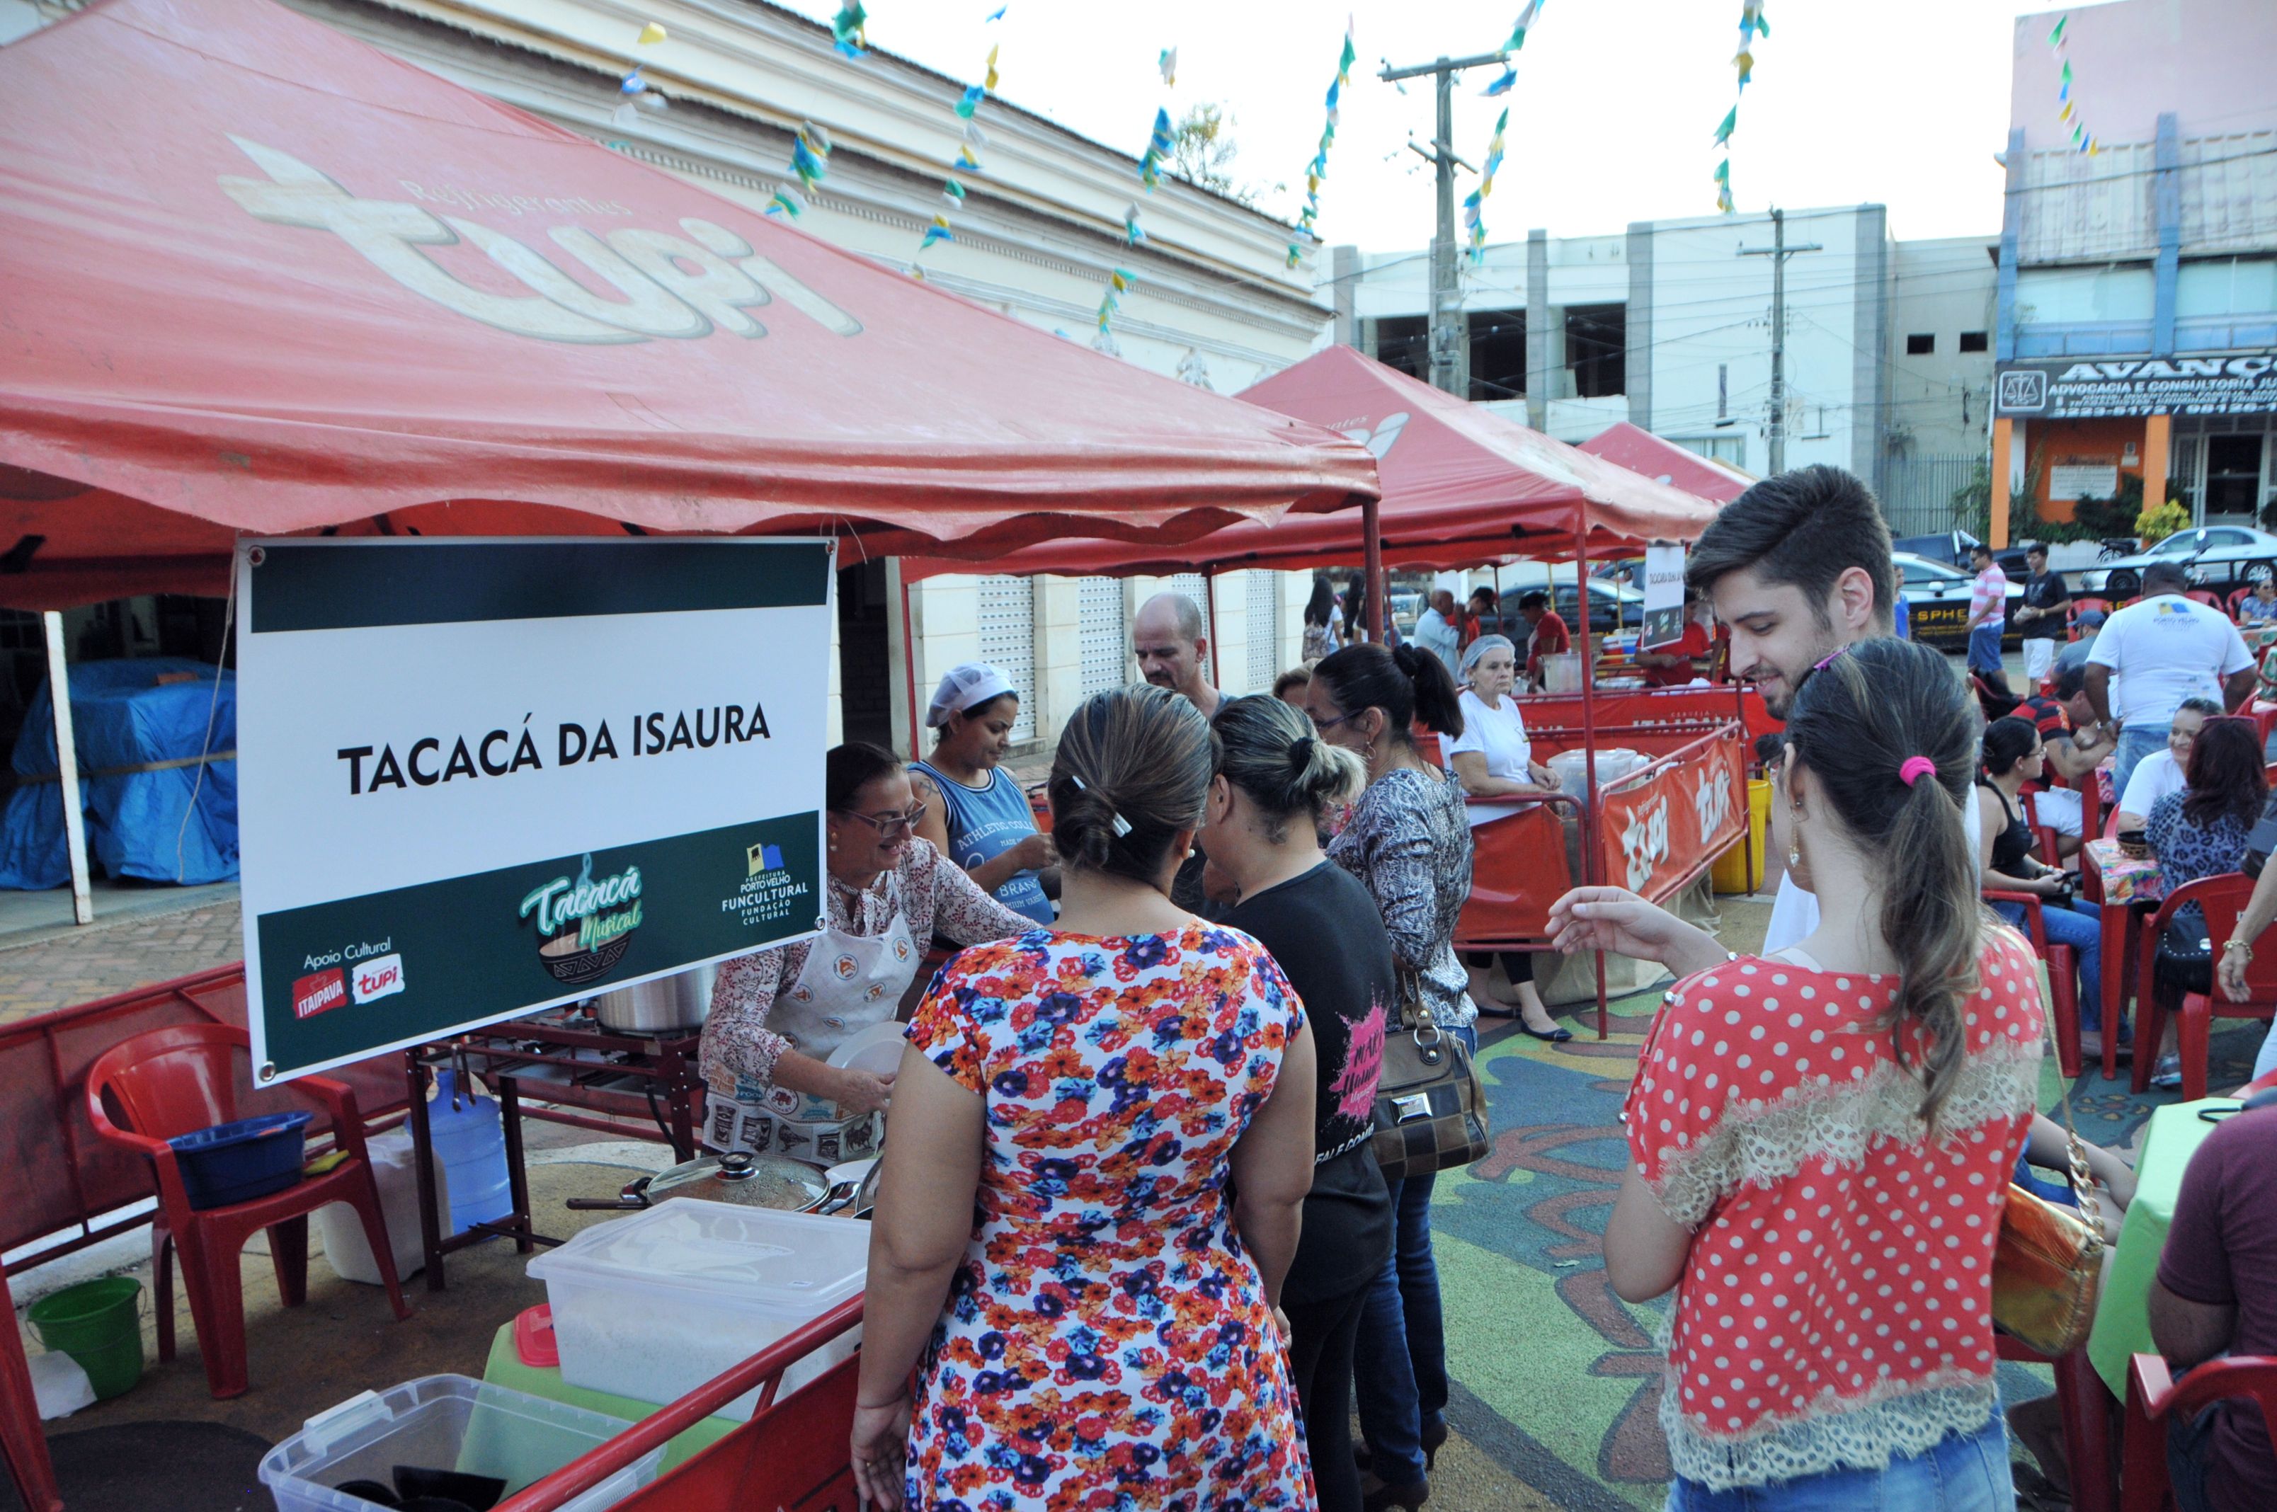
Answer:
M257 1079L815 931L829 542L266 540L237 599Z

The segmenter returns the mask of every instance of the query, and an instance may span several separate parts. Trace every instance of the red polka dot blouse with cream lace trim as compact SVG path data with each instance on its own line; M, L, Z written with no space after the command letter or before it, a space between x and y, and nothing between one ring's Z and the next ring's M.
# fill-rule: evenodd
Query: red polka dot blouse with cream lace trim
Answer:
M1660 1425L1678 1476L1765 1485L1917 1455L1995 1412L1992 1248L2033 1111L2040 977L2001 929L1931 1132L1894 977L1742 956L1669 993L1624 1118L1694 1230ZM1897 1057L1906 1043L1904 1063Z

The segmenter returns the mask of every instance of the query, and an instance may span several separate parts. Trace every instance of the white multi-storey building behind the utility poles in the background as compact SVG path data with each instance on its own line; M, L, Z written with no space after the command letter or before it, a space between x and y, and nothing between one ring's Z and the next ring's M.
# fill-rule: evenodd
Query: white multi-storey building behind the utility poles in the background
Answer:
M1626 419L1767 471L1772 244L1746 214L1489 246L1462 264L1471 398L1562 442ZM1945 508L1986 453L1995 239L1892 241L1853 205L1787 212L1785 244L1787 467L1849 467L1901 526ZM1428 255L1334 248L1334 276L1337 339L1428 376Z

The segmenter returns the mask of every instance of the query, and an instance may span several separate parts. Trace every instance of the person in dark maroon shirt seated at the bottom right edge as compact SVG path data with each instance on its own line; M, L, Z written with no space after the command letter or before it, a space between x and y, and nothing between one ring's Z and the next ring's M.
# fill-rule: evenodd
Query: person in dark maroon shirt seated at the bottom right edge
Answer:
M2216 1355L2277 1355L2277 1109L2231 1114L2181 1173L2149 1337L2177 1371ZM2252 1512L2277 1485L2252 1403L2177 1416L2165 1466L2179 1512Z

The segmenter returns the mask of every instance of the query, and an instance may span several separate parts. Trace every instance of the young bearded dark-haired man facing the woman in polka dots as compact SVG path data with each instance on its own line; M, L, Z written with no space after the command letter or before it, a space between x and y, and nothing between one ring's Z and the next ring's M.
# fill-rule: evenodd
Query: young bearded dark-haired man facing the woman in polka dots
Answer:
M1731 628L1731 674L1756 683L1772 717L1785 720L1819 665L1853 642L1890 635L1890 526L1851 474L1797 467L1724 506L1692 547L1685 587L1712 601ZM1974 854L1983 824L1976 804L1963 804L1960 820ZM1765 954L1817 927L1819 899L1781 877ZM1551 936L1564 952L1612 950L1660 961L1678 977L1724 961L1715 936L1624 888L1573 888L1551 904Z

